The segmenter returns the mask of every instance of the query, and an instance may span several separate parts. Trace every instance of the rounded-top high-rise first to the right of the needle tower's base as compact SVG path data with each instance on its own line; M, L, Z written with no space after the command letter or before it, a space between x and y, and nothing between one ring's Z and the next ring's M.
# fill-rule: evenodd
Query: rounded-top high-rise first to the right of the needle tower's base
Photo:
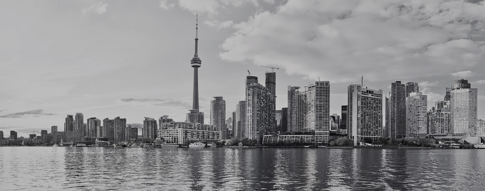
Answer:
M221 140L229 139L229 129L226 127L226 100L222 96L213 97L210 101L210 125L221 131Z

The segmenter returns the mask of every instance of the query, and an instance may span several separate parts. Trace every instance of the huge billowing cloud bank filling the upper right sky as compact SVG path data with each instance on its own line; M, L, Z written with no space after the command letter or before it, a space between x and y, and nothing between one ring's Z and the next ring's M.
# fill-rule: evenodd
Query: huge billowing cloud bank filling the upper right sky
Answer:
M464 0L289 0L234 24L219 56L335 82L439 75L483 62L484 18Z

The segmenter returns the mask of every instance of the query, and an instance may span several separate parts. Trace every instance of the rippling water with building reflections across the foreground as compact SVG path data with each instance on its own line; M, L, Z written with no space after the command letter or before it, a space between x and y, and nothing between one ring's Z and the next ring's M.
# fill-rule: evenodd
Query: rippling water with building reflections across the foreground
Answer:
M483 191L485 150L0 147L0 190Z

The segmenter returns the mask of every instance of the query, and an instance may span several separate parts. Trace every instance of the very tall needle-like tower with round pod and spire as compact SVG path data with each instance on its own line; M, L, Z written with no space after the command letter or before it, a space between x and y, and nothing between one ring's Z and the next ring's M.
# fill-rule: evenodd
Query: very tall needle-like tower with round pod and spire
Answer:
M195 23L195 53L194 57L190 61L190 65L194 68L194 96L192 101L192 110L189 110L190 113L187 113L187 121L189 123L200 123L204 124L204 113L199 111L199 80L198 80L198 68L202 64L202 60L200 60L197 54L197 46L198 46L198 25Z

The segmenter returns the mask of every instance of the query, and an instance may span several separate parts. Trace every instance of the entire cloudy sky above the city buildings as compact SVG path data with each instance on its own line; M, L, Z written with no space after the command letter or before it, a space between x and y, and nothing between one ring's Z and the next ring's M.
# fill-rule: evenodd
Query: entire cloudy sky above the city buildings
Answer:
M287 86L319 78L330 81L331 114L361 76L383 92L418 82L429 108L467 79L485 117L482 0L2 0L0 130L62 131L77 112L184 121L196 14L206 123L213 96L226 100L226 117L244 100L247 70L264 84L271 69L260 66L279 68L277 109Z

